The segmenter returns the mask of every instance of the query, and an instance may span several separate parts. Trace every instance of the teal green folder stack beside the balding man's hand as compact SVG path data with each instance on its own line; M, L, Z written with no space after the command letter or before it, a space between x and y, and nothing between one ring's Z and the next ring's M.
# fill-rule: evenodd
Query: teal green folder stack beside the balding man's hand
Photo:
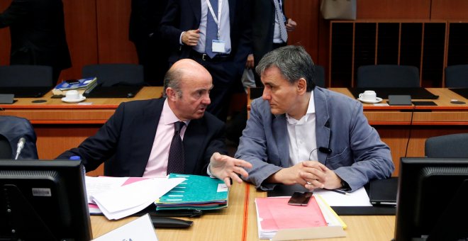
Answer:
M155 201L156 210L208 210L228 206L229 189L220 179L209 176L169 174L169 179L173 178L185 178L186 181Z

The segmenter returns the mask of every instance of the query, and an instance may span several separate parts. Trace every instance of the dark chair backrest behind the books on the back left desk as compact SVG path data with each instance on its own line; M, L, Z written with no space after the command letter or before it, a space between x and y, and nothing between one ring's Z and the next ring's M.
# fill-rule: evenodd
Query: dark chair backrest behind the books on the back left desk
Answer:
M82 77L97 77L101 86L144 85L143 65L101 64L85 65Z

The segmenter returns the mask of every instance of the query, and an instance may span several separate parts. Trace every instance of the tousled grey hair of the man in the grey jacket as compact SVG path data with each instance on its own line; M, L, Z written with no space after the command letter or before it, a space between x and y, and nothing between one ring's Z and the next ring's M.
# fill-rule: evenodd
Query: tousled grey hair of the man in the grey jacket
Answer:
M302 46L288 45L268 52L262 57L255 71L262 76L265 69L269 67L277 67L282 76L291 84L301 78L306 79L308 92L316 86L315 66L311 55L308 55Z

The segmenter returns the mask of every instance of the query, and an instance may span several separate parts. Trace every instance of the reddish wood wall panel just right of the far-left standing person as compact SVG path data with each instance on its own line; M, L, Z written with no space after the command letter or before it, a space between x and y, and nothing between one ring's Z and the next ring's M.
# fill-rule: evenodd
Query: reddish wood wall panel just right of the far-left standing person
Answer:
M72 67L62 71L60 78L77 79L84 65L97 62L96 0L63 1L63 9Z

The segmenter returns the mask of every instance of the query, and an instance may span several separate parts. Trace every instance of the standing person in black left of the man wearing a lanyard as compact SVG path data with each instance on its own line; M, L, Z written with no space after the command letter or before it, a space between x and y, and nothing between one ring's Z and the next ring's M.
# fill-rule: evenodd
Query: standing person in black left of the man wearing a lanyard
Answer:
M169 69L169 52L159 31L167 0L132 0L128 39L133 42L138 63L143 65L145 82L162 86Z

